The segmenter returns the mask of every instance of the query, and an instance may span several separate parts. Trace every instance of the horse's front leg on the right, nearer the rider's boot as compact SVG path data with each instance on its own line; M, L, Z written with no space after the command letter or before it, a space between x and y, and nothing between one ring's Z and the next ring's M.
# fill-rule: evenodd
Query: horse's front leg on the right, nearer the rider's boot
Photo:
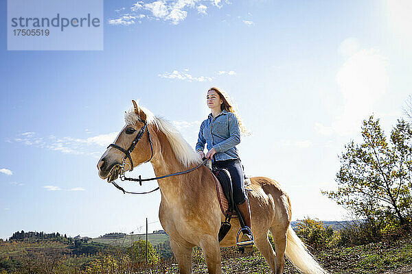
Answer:
M207 270L210 274L221 274L222 264L220 257L219 240L216 236L204 235L199 243L205 256Z

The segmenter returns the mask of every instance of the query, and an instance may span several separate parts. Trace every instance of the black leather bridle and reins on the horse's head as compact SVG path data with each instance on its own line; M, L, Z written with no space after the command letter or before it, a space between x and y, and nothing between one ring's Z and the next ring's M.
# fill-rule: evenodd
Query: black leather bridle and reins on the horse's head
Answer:
M139 178L126 177L124 175L124 173L126 173L126 171L133 171L133 160L132 160L132 157L130 156L130 153L133 152L133 150L135 149L135 147L137 145L137 142L139 142L139 140L141 139L141 136L143 136L146 129L148 131L150 151L152 151L152 155L150 155L150 159L147 160L146 162L150 162L150 160L152 160L152 158L153 158L153 145L152 145L152 139L150 138L148 123L147 123L147 121L142 121L142 122L144 122L143 127L141 127L141 129L137 133L135 139L133 140L132 144L130 145L130 147L128 147L127 150L124 149L123 147L120 147L120 146L115 145L115 144L110 144L107 147L107 148L114 147L115 149L119 149L119 151L122 151L124 153L124 158L123 158L122 164L117 164L117 166L120 167L120 179L122 181L139 182L139 184L141 186L141 182L148 182L148 181L153 181L153 180L156 180L156 179L163 179L163 178L167 178L167 177L172 177L172 176L176 176L176 175L182 175L182 174L185 174L185 173L190 173L190 171L194 171L195 169L198 169L199 167L201 167L203 164L205 164L207 162L208 159L205 159L205 160L203 160L203 162L201 164L199 164L198 166L195 166L193 169L187 169L187 171L180 171L180 172L176 172L176 173L172 173L172 174L168 174L168 175L163 175L163 176L159 176L159 177L152 177L152 178L146 178L146 179L141 179L141 175L139 175ZM130 164L128 162L126 162L126 159L130 160ZM130 167L130 169L126 169L126 170L124 169L124 166L126 164ZM159 190L159 187L157 187L154 190L150 190L148 192L129 192L129 191L124 190L124 188L122 188L118 184L116 184L115 181L112 181L110 183L113 184L113 186L115 186L117 189L122 190L124 194L126 194L126 193L128 193L128 194L148 194L150 192L154 192L156 190Z

